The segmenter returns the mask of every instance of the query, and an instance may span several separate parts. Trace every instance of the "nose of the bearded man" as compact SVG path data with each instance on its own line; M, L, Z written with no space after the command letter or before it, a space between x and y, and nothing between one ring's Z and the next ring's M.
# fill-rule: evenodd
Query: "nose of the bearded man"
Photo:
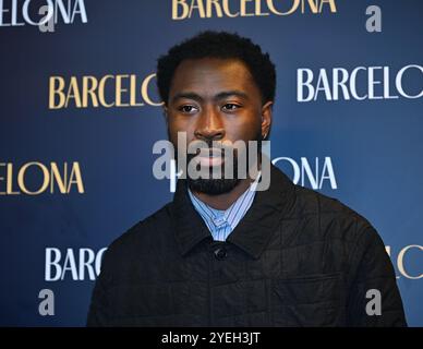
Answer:
M197 140L202 141L218 141L225 137L221 117L211 106L205 108L200 116L194 135Z

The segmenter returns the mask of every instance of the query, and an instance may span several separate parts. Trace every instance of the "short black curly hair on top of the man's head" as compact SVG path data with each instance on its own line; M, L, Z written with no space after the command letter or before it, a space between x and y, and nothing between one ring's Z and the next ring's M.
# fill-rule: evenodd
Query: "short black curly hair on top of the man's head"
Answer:
M241 60L262 93L262 101L275 99L276 69L269 55L262 52L258 45L237 33L206 31L173 46L158 58L157 87L165 105L168 104L170 84L179 64L185 59L201 58Z

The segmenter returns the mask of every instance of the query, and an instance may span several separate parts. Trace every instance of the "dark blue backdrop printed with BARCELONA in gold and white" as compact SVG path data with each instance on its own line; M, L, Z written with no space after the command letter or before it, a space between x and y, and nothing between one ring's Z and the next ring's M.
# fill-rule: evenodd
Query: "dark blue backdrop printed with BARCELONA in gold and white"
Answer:
M109 243L172 197L156 60L205 29L269 52L274 164L376 227L423 326L421 0L1 0L0 325L85 325Z

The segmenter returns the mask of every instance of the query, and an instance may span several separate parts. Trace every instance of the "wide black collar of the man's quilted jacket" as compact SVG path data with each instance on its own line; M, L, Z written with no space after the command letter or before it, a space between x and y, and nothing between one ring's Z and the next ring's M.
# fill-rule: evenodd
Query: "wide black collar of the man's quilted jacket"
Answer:
M249 212L227 239L254 258L259 257L294 201L294 185L290 179L278 168L270 166L269 189L256 193ZM182 255L204 239L210 238L210 232L191 203L185 180L178 180L172 217Z

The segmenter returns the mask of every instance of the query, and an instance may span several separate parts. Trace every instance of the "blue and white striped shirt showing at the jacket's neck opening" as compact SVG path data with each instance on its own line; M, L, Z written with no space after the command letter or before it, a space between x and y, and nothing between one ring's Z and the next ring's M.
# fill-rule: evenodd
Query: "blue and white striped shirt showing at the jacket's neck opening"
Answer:
M254 183L255 184L255 183ZM189 189L190 198L196 212L202 216L213 239L226 241L228 236L235 229L241 219L253 204L255 188L252 184L237 201L226 210L213 208L195 197ZM255 185L254 185L255 186Z

